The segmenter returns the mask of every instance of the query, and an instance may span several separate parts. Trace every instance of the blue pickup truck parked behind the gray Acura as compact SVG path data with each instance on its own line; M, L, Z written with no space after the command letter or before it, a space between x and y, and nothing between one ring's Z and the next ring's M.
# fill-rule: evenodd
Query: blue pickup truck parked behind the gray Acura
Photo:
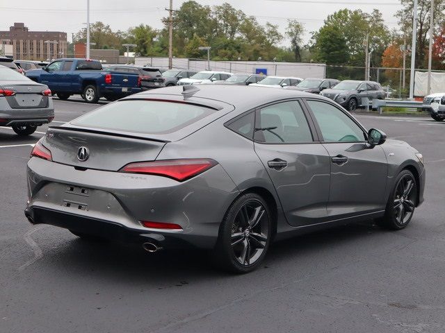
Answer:
M97 103L101 97L115 101L141 91L138 74L102 71L98 60L57 59L42 69L26 72L35 82L47 85L59 99L81 95L88 103Z

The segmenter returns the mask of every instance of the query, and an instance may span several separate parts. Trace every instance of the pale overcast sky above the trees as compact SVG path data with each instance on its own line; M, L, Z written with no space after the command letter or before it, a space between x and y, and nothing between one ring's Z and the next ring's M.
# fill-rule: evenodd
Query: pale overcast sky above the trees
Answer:
M179 8L186 0L173 0ZM30 31L79 31L86 22L86 0L15 0L0 2L0 31L9 30L14 22L24 22ZM394 15L401 8L398 0L197 0L202 5L231 3L247 15L257 17L259 23L278 24L284 33L286 19L298 19L305 25L305 40L309 32L316 31L327 15L342 9L362 9L371 12L378 8L389 28L397 27ZM168 0L90 0L90 22L102 21L113 31L127 30L140 23L161 28L161 18L168 12ZM284 44L287 44L284 41Z

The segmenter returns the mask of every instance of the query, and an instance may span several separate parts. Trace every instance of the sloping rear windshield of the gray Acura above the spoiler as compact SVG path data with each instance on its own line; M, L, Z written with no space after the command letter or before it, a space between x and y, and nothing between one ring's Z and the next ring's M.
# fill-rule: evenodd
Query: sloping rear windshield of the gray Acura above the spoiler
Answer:
M76 126L165 134L195 123L213 110L186 103L127 100L110 103L71 123Z

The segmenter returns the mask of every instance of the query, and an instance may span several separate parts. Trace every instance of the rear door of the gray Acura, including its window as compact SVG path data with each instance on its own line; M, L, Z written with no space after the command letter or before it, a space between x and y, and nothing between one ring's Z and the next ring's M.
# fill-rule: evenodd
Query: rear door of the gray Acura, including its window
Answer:
M316 141L299 101L256 111L254 149L280 198L287 221L300 227L327 218L330 157Z

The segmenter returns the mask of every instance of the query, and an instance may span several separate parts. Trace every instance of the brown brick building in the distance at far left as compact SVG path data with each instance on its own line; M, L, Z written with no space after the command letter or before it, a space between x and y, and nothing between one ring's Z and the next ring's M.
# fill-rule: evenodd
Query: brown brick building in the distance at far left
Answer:
M0 44L13 45L13 58L51 60L67 53L67 33L60 31L29 31L24 23L15 23L9 31L0 31Z

